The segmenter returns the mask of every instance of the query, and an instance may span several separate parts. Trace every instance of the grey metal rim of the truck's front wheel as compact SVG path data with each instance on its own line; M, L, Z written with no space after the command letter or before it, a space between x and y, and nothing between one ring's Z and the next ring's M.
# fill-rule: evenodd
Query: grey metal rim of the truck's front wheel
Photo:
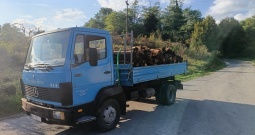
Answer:
M104 121L107 124L111 124L114 122L114 120L116 119L116 110L115 108L113 108L112 106L108 106L105 108L104 113L103 113L103 118Z

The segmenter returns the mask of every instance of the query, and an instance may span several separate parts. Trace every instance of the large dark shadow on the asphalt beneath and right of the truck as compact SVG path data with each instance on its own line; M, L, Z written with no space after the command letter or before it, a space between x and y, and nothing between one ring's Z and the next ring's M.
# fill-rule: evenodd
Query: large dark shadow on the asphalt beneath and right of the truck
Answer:
M97 131L94 124L88 123L69 128L58 135L255 134L254 105L180 98L172 106L157 105L152 99L139 100L139 103L149 103L154 107L151 111L139 108L129 110L121 118L118 127L107 133Z

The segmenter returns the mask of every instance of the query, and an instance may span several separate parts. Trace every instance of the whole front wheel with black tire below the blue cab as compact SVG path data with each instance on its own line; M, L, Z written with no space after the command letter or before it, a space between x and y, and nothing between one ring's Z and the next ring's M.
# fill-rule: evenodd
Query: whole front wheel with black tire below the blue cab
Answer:
M98 110L97 126L99 130L107 132L116 127L120 120L120 106L114 99L103 102Z

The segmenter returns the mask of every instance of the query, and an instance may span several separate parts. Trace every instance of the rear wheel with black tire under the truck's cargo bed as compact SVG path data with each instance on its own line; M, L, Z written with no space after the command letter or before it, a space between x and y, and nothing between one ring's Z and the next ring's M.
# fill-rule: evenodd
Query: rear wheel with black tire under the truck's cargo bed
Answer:
M163 105L172 105L176 99L176 88L170 83L164 83L161 85L156 100Z

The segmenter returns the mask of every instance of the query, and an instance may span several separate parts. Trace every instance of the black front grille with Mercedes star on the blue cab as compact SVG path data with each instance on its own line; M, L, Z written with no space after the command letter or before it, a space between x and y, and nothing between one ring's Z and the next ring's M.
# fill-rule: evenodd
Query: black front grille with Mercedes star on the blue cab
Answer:
M59 88L42 88L25 85L25 91L29 97L61 103L62 90Z

